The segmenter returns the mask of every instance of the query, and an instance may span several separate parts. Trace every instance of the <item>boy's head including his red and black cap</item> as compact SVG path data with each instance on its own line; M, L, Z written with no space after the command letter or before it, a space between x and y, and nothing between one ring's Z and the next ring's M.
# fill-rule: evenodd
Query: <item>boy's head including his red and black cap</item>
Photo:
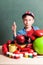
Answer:
M26 11L22 15L23 23L25 27L30 27L34 23L34 14L30 11Z

